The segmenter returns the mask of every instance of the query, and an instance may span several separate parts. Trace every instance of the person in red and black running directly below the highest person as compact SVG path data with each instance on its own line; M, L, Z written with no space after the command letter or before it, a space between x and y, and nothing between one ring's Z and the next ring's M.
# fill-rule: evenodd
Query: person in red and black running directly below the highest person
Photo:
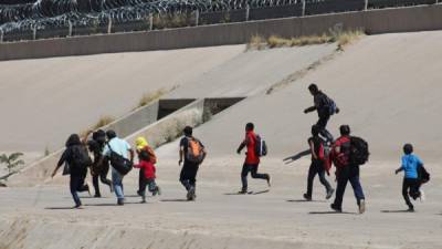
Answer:
M312 126L312 137L308 138L308 145L311 146L312 164L308 169L307 193L304 194L304 198L308 201L312 200L313 180L315 176L318 175L320 184L324 185L326 190L326 199L329 199L335 189L332 188L330 184L325 178L325 173L328 168L324 155L324 141L319 137L319 127L317 125Z

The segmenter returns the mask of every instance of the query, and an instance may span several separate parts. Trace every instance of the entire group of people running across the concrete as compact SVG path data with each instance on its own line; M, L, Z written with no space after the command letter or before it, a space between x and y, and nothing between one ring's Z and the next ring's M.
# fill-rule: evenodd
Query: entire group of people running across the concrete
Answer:
M311 84L308 90L314 96L314 105L306 108L304 113L316 111L318 122L312 126L312 137L308 138L312 164L308 169L307 191L304 194L304 198L307 201L312 200L314 178L318 175L326 190L326 199L332 198L336 191L335 200L330 207L333 210L340 212L343 211L344 194L349 181L355 193L359 212L362 214L366 210L366 197L360 184L359 167L368 160L368 144L359 137L351 136L348 125L341 125L339 127L340 136L334 139L326 126L330 116L339 113L339 108L317 85ZM183 137L179 143L178 164L182 165L179 180L187 190L187 199L196 200L196 178L199 166L207 156L207 149L201 141L192 135L192 127L185 127L182 133ZM92 137L90 138L91 134ZM124 205L123 178L133 167L140 169L137 194L141 197L143 203L146 203L146 188L152 196L161 194L160 187L155 180L157 157L145 137L137 137L136 149L134 151L129 143L117 136L115 131L104 132L98 129L87 133L83 139L77 134L72 134L67 138L65 146L66 149L52 173L52 177L55 176L59 168L64 166L63 175L70 175L70 189L75 201L75 208L82 206L77 193L88 191L91 195L91 187L85 181L88 168L91 169L95 189L94 197L101 197L98 184L101 180L109 187L112 193L115 193L117 205ZM271 176L257 172L260 157L266 155L266 145L255 134L253 123L245 125L245 138L240 144L236 153L241 154L244 148L246 153L241 172L242 188L239 194L248 194L249 174L251 174L252 178L266 180L270 187ZM396 170L396 174L404 170L402 195L409 207L408 210L414 211L410 196L413 199L423 198L423 191L420 186L425 180L429 180L429 174L425 172L422 160L413 155L411 144L404 145L403 151L402 164ZM90 153L93 158L90 157ZM138 157L138 164L134 164L135 156ZM336 167L336 189L326 179L326 174L330 175L332 165ZM107 178L109 169L112 169L112 179Z

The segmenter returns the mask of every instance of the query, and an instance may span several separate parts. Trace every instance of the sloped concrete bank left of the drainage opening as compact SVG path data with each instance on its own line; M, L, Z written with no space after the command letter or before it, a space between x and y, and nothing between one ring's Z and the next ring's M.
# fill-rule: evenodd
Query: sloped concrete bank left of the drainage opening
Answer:
M60 148L99 116L122 116L144 93L181 85L243 45L0 62L0 151Z

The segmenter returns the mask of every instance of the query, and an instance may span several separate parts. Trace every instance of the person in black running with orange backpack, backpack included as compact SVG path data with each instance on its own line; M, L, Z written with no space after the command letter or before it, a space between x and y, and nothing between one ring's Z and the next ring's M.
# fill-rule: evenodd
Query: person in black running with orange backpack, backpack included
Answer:
M180 181L187 190L187 199L194 200L197 198L197 173L200 164L207 156L204 145L192 136L193 128L186 126L183 129L185 137L180 141L179 162L181 166Z

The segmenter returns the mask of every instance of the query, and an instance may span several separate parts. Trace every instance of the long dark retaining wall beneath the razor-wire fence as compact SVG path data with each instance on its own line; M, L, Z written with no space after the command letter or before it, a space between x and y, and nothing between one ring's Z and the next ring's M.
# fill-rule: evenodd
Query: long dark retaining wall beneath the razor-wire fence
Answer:
M442 6L369 10L285 18L172 30L74 37L0 44L0 60L39 59L97 53L171 50L246 43L254 34L298 37L322 34L336 24L368 33L442 29Z

